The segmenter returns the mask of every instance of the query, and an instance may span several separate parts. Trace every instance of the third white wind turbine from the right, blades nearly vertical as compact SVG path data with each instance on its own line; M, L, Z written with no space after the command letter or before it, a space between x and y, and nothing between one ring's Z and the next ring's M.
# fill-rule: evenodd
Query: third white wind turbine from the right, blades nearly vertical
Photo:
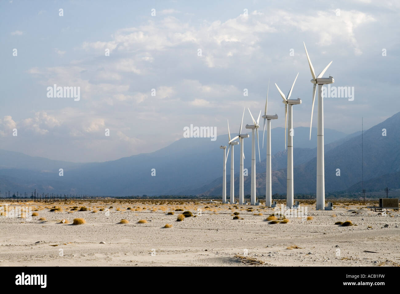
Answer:
M265 206L271 207L272 205L272 180L271 180L271 120L276 120L278 114L267 115L268 105L268 90L270 88L270 81L268 80L267 99L265 101L265 111L262 118L264 118L264 134L265 134L265 121L267 121L267 170L266 170L266 183L265 183ZM262 148L264 148L264 134L262 135Z

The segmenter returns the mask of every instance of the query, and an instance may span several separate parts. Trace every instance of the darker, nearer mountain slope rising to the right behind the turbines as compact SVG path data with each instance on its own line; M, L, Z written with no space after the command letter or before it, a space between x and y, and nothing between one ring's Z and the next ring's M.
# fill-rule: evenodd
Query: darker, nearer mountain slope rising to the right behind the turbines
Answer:
M396 181L396 173L400 170L400 146L398 144L400 132L400 112L384 122L364 131L364 180L377 178L377 181ZM382 129L386 129L387 136L382 136ZM272 158L273 168L282 168L272 171L272 193L286 194L286 152L278 152ZM302 162L306 160L306 162ZM354 134L336 142L325 145L325 190L326 192L344 191L361 180L361 134ZM256 167L257 193L265 194L265 162ZM336 176L336 169L340 169L340 176ZM250 193L251 169L245 177L245 194ZM381 177L386 174L392 176ZM378 177L377 177L378 176ZM235 195L238 194L235 178ZM397 182L400 182L397 178ZM216 186L205 185L199 194L220 195L222 191L222 177L213 181ZM375 182L379 184L379 182ZM392 183L392 186L397 184ZM229 195L230 182L227 178L227 194ZM354 189L354 188L353 188ZM295 193L315 193L316 191L316 149L302 150L294 148L294 191Z

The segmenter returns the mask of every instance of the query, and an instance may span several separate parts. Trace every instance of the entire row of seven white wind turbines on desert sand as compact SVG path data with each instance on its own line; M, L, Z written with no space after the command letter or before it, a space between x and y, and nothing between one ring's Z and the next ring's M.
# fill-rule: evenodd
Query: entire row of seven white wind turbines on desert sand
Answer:
M303 42L304 44L304 42ZM304 44L304 49L306 50L306 56L308 60L308 65L310 66L311 76L313 83L312 90L312 108L311 108L311 122L310 122L310 140L311 140L311 127L312 127L312 116L314 112L314 102L316 95L316 86L318 85L318 131L317 131L317 201L316 201L316 209L324 210L325 209L325 179L324 179L324 106L323 106L323 96L322 96L322 86L324 84L332 84L334 83L334 78L329 76L329 78L322 78L328 67L332 64L332 61L318 74L315 75L314 67L312 66L310 56L308 56L306 44ZM293 105L301 104L302 101L300 98L290 99L292 95L292 90L294 84L296 83L298 74L294 79L292 87L289 90L287 96L283 94L277 84L275 84L276 88L280 96L282 96L283 103L285 104L285 148L288 148L288 165L287 165L287 186L286 186L286 206L289 208L293 208L293 199L294 199L294 191L293 191ZM266 158L266 204L265 206L272 206L272 180L271 180L271 120L275 120L278 118L278 115L267 115L267 106L268 106L268 91L269 91L269 81L267 88L267 97L265 102L264 115L264 133L262 137L262 148L264 148L264 134L265 134L265 123L267 122L267 158ZM228 121L228 153L226 153L227 146L220 146L220 149L224 150L224 159L223 159L223 171L222 171L222 203L227 203L226 201L226 162L228 159L229 151L231 152L230 157L230 204L234 204L234 146L240 144L240 174L239 174L239 204L244 204L244 175L243 175L243 139L249 138L249 134L242 134L242 126L243 126L243 118L246 107L243 109L242 122L240 123L239 134L234 138L230 136L229 130L229 121ZM252 130L252 171L251 171L251 198L250 205L256 205L256 144L255 138L257 137L257 145L258 145L258 159L260 160L260 144L258 140L258 128L260 127L260 114L258 114L257 120L254 119L250 109L248 108L250 116L252 118L253 124L246 125L246 129ZM287 145L286 145L286 122L288 122L288 137L287 137ZM239 139L238 141L235 141Z

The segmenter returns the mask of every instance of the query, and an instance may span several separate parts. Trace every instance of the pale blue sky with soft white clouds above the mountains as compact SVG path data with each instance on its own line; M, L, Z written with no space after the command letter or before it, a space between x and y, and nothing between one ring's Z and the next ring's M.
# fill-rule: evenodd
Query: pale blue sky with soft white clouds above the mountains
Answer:
M102 162L168 146L190 124L221 135L229 119L236 135L244 107L264 112L268 80L283 127L274 83L286 94L297 73L293 124L309 127L303 41L316 74L332 60L331 86L354 87L354 100L324 99L325 128L350 134L364 117L368 129L400 111L399 12L388 0L1 1L0 148ZM54 84L80 99L49 98Z

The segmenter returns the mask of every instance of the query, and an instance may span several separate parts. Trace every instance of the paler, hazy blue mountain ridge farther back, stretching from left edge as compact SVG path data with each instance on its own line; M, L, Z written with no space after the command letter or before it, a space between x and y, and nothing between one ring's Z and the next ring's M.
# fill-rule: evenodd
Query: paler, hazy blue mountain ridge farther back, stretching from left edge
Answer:
M294 130L296 146L316 146L316 136L311 141L308 139L308 128L298 127ZM274 128L271 133L272 151L283 150L284 129ZM329 129L326 134L328 142L346 136L342 132ZM261 140L262 135L260 146ZM226 134L218 136L216 141L211 141L210 138L182 138L156 152L84 164L0 150L0 187L4 190L15 190L18 187L20 192L32 192L37 188L45 193L113 196L182 194L182 191L196 194L193 192L199 187L221 176L222 150L219 146L226 145L227 142ZM239 150L236 146L236 167L239 167ZM244 164L250 166L251 139L245 140L244 152ZM265 147L260 154L261 159L265 160ZM58 175L59 168L64 169L62 177ZM153 168L156 176L151 176Z

